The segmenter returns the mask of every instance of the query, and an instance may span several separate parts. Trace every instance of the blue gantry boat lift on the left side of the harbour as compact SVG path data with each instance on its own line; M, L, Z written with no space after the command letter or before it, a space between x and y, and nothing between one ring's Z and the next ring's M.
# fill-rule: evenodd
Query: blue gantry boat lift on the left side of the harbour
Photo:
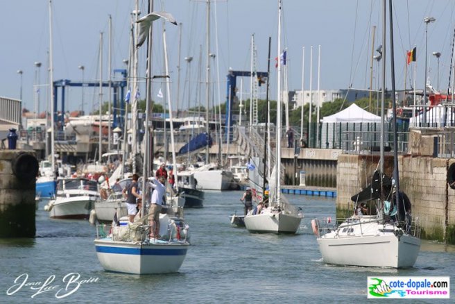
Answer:
M125 87L126 87L126 78L127 78L127 71L126 69L114 69L114 74L119 73L123 76L121 81L111 81L110 86L112 90L114 90L114 112L112 113L114 116L114 121L112 123L112 127L116 128L119 126L123 129L125 126L125 121L123 117L125 116L125 101L123 100L123 96L125 96ZM59 81L53 82L53 108L54 108L54 121L55 123L58 122L58 88L61 88L62 91L62 115L60 117L60 126L58 129L62 130L63 126L65 125L65 87L99 87L100 83L98 81L83 81L83 82L72 82L68 79L60 79ZM109 82L103 82L103 87L109 87ZM119 89L120 89L120 97L119 97ZM120 114L117 112L117 102L120 99Z

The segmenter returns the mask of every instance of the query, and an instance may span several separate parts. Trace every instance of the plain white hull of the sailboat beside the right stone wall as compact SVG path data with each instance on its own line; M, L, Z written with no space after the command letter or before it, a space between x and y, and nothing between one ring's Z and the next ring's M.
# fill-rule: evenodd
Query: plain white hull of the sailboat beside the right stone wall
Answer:
M420 251L420 239L394 233L370 236L318 237L323 261L327 264L361 267L413 267Z

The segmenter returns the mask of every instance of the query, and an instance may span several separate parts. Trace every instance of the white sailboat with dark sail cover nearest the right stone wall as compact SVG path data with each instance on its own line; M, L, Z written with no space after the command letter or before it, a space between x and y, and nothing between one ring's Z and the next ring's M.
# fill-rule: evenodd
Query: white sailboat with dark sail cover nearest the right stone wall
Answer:
M391 2L391 1L390 1ZM390 18L392 8L390 7ZM384 28L386 25L386 1L384 0ZM386 45L383 33L382 45ZM392 62L393 111L396 108L395 78L393 65L393 26L390 21L390 58ZM379 169L372 174L372 183L362 192L352 196L356 208L363 201L373 201L376 214L363 212L345 219L338 227L329 227L327 221L311 221L323 262L327 264L361 267L413 267L420 251L420 228L411 217L411 202L400 190L398 175L396 117L394 130L393 179L384 174L384 87L385 47L383 48L383 85L381 111L381 155ZM391 207L393 205L393 207ZM374 213L374 212L373 212Z

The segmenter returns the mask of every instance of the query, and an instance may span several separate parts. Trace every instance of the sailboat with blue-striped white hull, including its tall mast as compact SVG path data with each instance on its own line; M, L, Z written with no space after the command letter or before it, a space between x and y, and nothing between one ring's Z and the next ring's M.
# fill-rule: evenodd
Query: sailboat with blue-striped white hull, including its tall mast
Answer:
M148 58L151 59L151 23L157 19L163 18L173 24L177 24L172 15L168 12L151 12L137 20L140 26L139 40L137 47L149 37ZM146 187L146 176L148 174L148 151L149 132L148 128L150 119L151 104L151 60L147 65L147 94L146 94L146 134L145 140L146 152L144 154L143 182L142 189ZM142 200L146 201L145 191L142 192ZM145 204L142 205L141 214L146 214ZM187 255L189 242L186 237L180 238L180 231L175 223L170 223L167 227L169 237L166 239L148 237L150 226L146 225L146 217L140 218L135 223L127 223L126 226L115 225L112 233L108 235L105 232L105 226L98 226L97 238L94 240L96 255L99 262L106 271L115 271L121 273L149 274L149 273L171 273L178 271L182 266L184 258ZM160 221L161 222L161 221ZM163 228L163 227L162 227ZM187 230L187 227L185 227ZM186 233L185 233L186 235Z

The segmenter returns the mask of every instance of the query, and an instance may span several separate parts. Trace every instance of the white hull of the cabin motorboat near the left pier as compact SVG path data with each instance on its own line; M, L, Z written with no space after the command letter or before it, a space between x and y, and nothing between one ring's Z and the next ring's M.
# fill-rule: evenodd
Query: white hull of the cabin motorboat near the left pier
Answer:
M94 196L58 197L49 211L51 219L88 219L94 208Z

